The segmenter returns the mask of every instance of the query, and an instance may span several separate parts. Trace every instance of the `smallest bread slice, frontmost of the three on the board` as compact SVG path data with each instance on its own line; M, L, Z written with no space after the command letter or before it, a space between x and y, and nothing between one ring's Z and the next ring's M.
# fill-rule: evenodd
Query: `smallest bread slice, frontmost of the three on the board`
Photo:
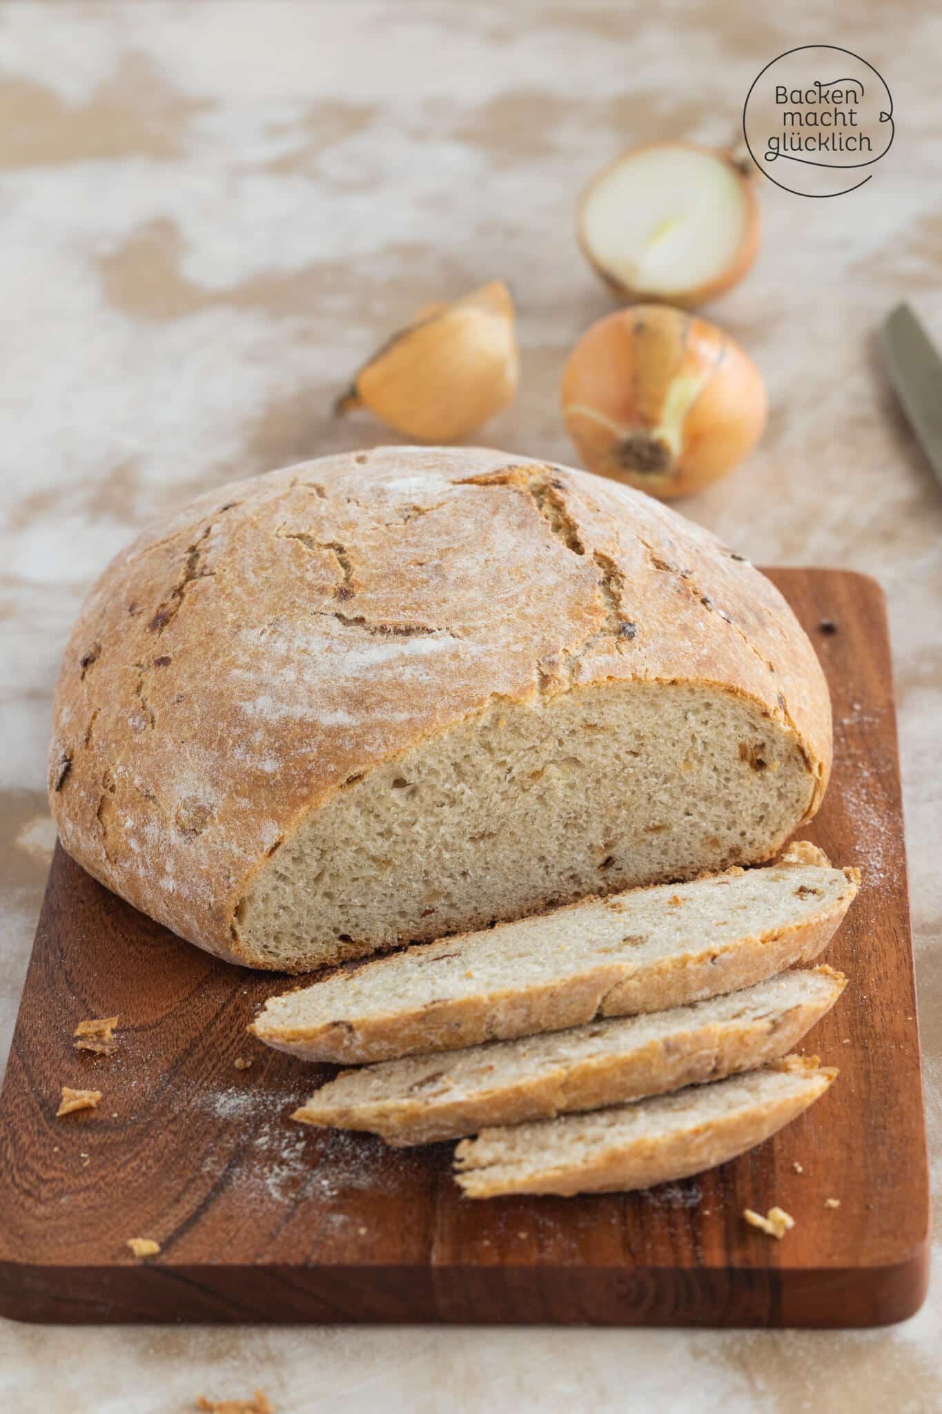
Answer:
M816 1056L787 1056L654 1100L483 1130L458 1145L456 1178L469 1198L607 1193L686 1178L761 1144L836 1075Z

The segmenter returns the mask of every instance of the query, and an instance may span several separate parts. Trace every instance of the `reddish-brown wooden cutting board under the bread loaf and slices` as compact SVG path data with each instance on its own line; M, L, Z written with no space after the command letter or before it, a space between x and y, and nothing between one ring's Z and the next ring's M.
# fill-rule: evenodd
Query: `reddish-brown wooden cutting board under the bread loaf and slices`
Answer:
M0 1097L0 1311L25 1321L860 1326L914 1312L928 1181L883 595L775 570L835 708L801 831L863 888L826 960L850 986L808 1049L832 1090L761 1148L645 1193L472 1202L452 1147L288 1116L328 1072L246 1035L284 983L179 942L56 850ZM120 1049L73 1051L117 1012ZM236 1059L251 1059L237 1069ZM56 1120L59 1087L100 1089ZM839 1208L825 1206L836 1198ZM784 1241L743 1219L778 1203ZM129 1251L153 1237L160 1256Z

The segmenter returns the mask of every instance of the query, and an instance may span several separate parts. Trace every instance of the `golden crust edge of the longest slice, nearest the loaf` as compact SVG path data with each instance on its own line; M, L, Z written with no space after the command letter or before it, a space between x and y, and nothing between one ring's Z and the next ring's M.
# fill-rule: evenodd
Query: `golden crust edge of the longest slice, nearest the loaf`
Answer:
M740 991L794 963L816 957L829 943L860 885L857 870L842 872L847 887L830 906L808 915L801 923L737 939L725 947L713 947L705 940L696 952L657 959L645 967L616 960L586 969L562 983L552 978L527 987L494 988L353 1021L338 1018L306 1027L292 1025L280 1021L274 1007L263 1011L250 1031L266 1045L306 1060L360 1065L542 1031L565 1031L599 1017L667 1011L705 997ZM568 909L579 906L571 904ZM565 915L568 909L555 912ZM422 945L417 952L427 960L434 957L435 949L460 953L465 940L465 936L449 937ZM381 969L387 960L366 966ZM275 1004L277 1000L273 998Z

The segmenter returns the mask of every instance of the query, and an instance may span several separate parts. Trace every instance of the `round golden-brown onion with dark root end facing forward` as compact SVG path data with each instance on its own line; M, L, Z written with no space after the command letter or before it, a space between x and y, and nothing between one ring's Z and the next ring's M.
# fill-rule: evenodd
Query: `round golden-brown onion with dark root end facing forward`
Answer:
M561 406L590 471L662 499L732 471L767 413L761 373L739 344L664 304L593 324L566 363Z

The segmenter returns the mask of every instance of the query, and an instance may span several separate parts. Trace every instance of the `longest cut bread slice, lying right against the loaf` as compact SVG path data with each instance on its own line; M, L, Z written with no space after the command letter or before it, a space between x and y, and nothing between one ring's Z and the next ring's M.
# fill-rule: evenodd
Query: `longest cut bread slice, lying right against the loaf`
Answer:
M343 1063L664 1011L816 957L857 884L856 870L780 863L583 899L271 997L251 1029Z

